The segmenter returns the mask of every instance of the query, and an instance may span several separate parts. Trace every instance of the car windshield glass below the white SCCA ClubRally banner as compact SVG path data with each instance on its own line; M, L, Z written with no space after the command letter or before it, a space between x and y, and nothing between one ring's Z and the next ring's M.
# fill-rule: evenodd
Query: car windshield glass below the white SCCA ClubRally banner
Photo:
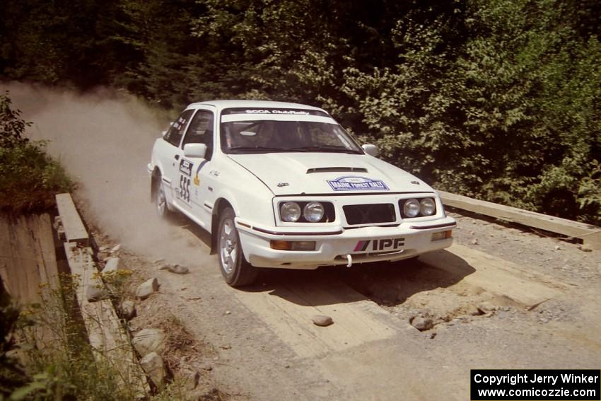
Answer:
M221 124L224 153L332 152L363 154L338 124L313 121L232 121Z

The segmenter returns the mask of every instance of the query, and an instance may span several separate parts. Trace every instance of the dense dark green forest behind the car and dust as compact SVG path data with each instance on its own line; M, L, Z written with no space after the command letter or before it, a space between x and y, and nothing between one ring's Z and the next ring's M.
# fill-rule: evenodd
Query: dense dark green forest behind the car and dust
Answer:
M320 105L448 190L601 224L595 0L8 0L0 77Z

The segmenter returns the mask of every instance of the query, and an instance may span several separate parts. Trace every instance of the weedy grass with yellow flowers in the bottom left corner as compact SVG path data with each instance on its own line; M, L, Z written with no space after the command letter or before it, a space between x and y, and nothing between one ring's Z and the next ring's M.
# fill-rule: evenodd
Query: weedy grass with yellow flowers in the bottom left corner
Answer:
M136 385L119 380L119 366L95 357L76 313L78 277L59 289L40 286L40 303L21 310L14 327L25 385L0 400L134 400ZM5 394L6 395L6 394Z

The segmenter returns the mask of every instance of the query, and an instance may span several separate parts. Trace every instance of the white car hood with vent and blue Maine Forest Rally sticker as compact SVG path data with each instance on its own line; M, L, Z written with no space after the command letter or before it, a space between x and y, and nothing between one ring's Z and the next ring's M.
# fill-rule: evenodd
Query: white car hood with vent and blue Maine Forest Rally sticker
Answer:
M230 154L276 195L432 192L414 175L368 155Z

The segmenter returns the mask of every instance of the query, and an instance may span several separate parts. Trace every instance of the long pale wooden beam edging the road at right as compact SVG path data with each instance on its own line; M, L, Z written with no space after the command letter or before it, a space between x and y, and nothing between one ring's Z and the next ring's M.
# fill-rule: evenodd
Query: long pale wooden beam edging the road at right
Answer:
M515 207L504 206L492 202L472 199L450 192L437 191L443 204L457 209L473 211L484 216L495 217L552 233L559 233L570 238L578 238L590 249L601 250L601 227L547 216L546 214L527 211Z

